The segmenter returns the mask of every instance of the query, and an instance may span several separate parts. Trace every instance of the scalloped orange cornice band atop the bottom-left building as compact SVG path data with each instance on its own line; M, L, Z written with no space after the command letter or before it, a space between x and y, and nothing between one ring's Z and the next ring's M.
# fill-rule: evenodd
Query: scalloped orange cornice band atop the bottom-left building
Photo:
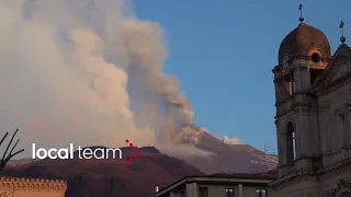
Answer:
M67 182L63 179L0 177L0 189L4 190L37 190L65 193Z

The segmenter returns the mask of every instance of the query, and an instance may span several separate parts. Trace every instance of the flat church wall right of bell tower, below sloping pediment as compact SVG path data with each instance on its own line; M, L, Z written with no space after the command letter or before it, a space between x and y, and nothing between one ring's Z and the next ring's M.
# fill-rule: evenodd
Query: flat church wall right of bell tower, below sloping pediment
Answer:
M318 97L322 165L328 167L350 157L351 83Z

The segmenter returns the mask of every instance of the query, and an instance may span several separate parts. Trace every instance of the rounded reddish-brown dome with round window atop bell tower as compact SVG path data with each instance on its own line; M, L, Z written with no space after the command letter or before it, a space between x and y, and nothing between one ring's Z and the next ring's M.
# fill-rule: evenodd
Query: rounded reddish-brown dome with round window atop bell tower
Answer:
M279 49L279 62L282 65L283 59L296 56L326 63L331 56L327 36L318 28L301 23L283 39Z

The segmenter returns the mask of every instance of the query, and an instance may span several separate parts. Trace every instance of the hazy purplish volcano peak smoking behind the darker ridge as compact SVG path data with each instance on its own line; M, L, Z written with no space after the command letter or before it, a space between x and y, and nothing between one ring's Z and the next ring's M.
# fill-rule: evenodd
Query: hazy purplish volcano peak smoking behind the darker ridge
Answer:
M212 155L170 155L184 160L206 174L254 173L275 169L278 159L248 144L227 144L206 131L199 130L196 148L212 152Z

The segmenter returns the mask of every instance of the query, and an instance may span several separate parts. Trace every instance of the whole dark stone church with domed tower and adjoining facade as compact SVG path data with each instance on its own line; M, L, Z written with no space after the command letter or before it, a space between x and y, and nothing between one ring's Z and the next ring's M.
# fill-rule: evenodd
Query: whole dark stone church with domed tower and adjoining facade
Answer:
M351 196L351 49L302 23L274 67L279 178L284 197Z

